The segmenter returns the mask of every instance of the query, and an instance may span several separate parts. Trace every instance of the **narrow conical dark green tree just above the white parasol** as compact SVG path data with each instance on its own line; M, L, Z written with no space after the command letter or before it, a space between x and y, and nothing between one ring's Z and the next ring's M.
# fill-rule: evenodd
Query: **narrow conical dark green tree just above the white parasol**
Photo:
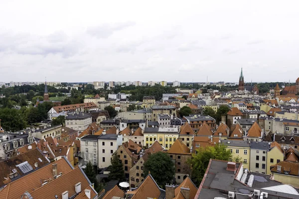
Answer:
M117 153L113 154L111 165L109 166L108 169L110 171L109 176L108 176L109 180L122 181L125 179L125 171L123 168L123 163L117 156Z

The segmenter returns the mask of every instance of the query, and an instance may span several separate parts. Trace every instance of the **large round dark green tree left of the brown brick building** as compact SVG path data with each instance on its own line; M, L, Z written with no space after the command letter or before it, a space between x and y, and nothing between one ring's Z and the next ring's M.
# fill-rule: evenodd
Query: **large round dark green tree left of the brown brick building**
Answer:
M161 188L165 188L167 183L171 183L174 177L174 163L167 153L157 152L149 155L144 167L144 175L147 176L150 172L150 175Z

